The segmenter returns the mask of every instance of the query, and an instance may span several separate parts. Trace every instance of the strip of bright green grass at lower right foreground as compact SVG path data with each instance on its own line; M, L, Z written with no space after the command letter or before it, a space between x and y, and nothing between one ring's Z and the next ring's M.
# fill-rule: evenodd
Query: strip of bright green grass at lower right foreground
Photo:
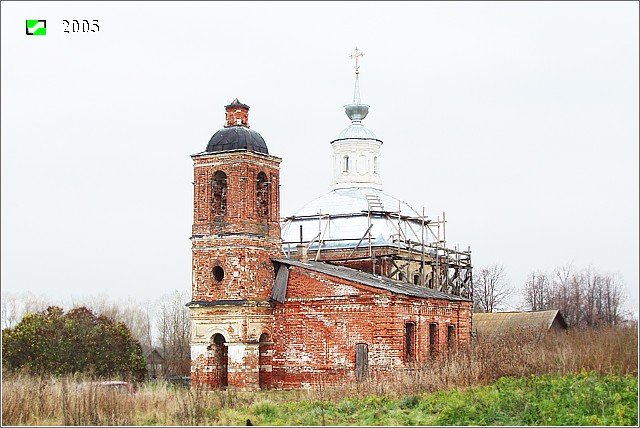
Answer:
M638 378L593 372L504 377L483 387L394 399L370 396L283 404L263 400L235 416L244 420L245 414L254 425L637 426Z

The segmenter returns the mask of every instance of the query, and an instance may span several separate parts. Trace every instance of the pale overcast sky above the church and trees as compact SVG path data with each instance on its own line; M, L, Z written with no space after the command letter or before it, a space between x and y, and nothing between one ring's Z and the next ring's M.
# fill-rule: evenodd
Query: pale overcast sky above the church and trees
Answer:
M1 7L3 292L190 290L190 155L237 97L283 159L281 215L328 192L357 46L385 193L446 212L512 307L572 263L618 275L637 316L638 2Z

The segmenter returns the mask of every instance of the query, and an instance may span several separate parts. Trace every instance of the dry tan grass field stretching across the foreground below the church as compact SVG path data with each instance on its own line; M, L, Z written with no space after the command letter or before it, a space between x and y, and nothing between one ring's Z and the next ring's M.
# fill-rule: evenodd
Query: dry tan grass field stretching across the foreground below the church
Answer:
M2 425L244 425L247 418L257 425L277 406L291 403L335 405L347 397L371 401L372 396L406 401L419 394L489 385L506 376L585 371L637 379L637 326L477 339L426 366L313 390L207 391L159 382L139 384L131 395L95 385L78 388L87 381L80 376L3 373ZM300 412L305 408L301 405Z

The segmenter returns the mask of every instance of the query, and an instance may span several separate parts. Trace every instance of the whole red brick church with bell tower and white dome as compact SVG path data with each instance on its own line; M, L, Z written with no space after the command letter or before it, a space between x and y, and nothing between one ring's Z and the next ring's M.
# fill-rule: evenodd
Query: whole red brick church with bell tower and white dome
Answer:
M469 341L470 251L425 238L432 222L382 193L382 141L362 125L357 50L355 59L351 124L331 142L332 190L295 215L280 217L281 158L238 99L192 155L192 382L343 383Z

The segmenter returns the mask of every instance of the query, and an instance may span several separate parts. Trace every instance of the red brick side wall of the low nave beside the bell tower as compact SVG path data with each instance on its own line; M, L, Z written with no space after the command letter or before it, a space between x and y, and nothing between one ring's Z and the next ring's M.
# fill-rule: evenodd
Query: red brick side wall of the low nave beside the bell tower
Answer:
M437 324L438 352L447 326L457 343L469 340L471 302L393 295L300 268L290 269L287 301L274 311L273 383L305 384L355 379L355 345L369 346L369 371L406 367L405 323L415 323L415 359L429 361L429 324Z

